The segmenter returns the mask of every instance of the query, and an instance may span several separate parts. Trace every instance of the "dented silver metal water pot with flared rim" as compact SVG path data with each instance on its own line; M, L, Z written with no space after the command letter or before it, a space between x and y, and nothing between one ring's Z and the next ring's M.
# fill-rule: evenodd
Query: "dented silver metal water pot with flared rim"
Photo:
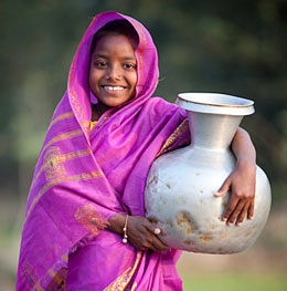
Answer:
M235 167L230 149L253 101L215 93L179 94L187 110L191 145L157 158L148 174L146 216L162 229L160 239L176 249L203 253L236 253L251 247L267 220L270 186L257 166L255 210L241 227L222 221L230 194L214 197ZM244 183L244 181L243 181Z

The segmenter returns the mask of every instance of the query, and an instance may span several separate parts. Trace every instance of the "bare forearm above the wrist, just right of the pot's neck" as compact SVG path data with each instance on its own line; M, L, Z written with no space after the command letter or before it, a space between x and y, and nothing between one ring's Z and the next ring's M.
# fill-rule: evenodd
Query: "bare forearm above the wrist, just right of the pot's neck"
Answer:
M237 164L247 163L251 165L256 164L256 152L246 131L238 128L232 141L232 152L234 153Z

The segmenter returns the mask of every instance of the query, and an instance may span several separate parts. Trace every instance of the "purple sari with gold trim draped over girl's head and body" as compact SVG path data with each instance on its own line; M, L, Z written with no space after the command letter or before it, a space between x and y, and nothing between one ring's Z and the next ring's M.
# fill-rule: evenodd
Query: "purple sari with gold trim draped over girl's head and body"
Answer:
M136 96L105 112L89 131L91 44L100 28L119 19L139 37ZM185 112L151 98L158 76L157 50L142 24L116 12L94 18L77 48L66 93L35 166L17 290L181 290L179 251L137 251L105 229L115 214L145 216L151 163L189 143Z

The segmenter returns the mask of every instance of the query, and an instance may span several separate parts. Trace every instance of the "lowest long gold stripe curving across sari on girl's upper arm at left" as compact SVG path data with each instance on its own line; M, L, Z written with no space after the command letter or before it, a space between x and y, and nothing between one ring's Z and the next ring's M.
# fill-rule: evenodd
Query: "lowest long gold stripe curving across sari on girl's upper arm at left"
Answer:
M51 180L50 183L45 184L44 187L39 191L38 196L34 198L33 202L31 204L30 208L26 211L25 220L24 224L26 222L26 219L29 215L31 214L32 208L34 205L38 202L38 200L41 198L41 196L47 191L50 188L53 186L63 183L63 181L79 181L79 180L88 180L88 179L94 179L94 178L100 178L104 177L104 173L102 170L94 170L91 173L83 173L79 175L71 176L71 177L63 177L63 178L56 178Z

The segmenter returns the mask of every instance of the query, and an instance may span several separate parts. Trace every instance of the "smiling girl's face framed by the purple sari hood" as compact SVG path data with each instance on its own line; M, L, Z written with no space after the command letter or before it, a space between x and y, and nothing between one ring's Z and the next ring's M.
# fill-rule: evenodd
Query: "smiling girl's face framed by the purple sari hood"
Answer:
M137 60L126 35L103 37L89 65L89 87L98 102L114 107L135 97Z

